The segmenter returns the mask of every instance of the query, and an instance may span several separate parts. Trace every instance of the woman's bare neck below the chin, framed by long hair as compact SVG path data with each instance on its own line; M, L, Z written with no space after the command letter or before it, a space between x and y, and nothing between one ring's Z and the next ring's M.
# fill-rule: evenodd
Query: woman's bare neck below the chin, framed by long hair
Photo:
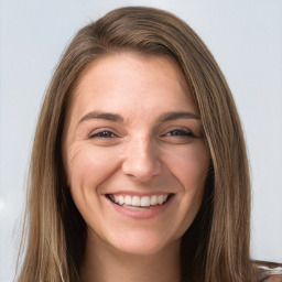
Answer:
M83 282L180 282L180 241L150 256L123 253L99 240L87 240Z

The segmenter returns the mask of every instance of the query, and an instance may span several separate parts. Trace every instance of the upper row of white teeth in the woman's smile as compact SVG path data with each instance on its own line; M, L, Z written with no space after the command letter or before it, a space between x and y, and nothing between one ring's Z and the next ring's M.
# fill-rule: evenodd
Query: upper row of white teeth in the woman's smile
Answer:
M150 207L162 205L167 200L169 194L152 196L129 196L129 195L109 195L109 198L120 206Z

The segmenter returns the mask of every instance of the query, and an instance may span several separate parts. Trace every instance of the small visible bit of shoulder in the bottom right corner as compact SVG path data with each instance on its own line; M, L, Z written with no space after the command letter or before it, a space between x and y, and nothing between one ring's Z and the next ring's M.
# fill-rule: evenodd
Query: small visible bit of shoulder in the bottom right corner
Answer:
M261 278L259 282L282 282L282 264L272 262L254 262Z

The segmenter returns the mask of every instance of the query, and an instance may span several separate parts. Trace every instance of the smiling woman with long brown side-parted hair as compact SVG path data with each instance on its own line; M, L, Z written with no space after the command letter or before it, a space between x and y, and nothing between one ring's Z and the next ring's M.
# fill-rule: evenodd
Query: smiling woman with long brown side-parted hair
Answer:
M115 10L82 29L47 89L18 281L262 281L240 120L200 39ZM278 275L270 279L281 279Z

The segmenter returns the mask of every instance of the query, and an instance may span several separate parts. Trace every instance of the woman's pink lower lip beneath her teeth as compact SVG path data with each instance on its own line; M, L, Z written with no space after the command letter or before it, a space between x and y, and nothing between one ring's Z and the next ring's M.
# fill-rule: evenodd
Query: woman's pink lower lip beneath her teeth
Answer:
M105 196L106 197L106 196ZM108 197L106 197L107 202L113 207L113 209L127 217L131 217L134 219L150 219L156 217L164 213L164 210L172 203L173 196L171 196L163 205L151 206L150 208L144 208L142 210L129 209L123 206L117 205L112 203Z

